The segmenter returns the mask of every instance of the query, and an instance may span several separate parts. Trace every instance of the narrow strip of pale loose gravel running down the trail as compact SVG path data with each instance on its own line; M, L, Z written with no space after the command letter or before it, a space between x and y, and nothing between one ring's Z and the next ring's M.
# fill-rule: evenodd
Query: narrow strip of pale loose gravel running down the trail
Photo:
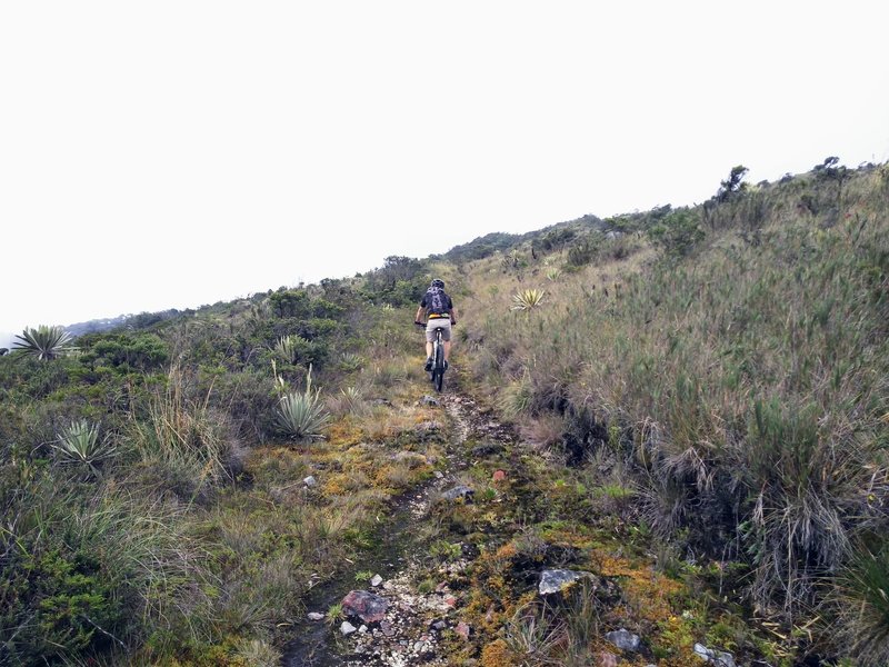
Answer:
M457 389L437 398L449 417L447 464L434 479L394 499L378 536L379 548L362 555L361 569L379 574L382 581L377 586L359 585L347 573L319 586L307 600L308 611L320 615L339 604L350 590L363 589L386 600L384 618L373 623L361 623L354 617L336 621L307 619L286 647L284 667L446 665L446 639L468 635L469 628L460 617L459 594L456 595L449 581L459 578L470 565L471 554L462 554L430 570L421 526L431 519L434 498L449 492L458 496L471 492L459 480L460 471L469 466L468 444L475 440L506 444L511 435ZM430 578L434 586L418 587L419 580L428 583Z

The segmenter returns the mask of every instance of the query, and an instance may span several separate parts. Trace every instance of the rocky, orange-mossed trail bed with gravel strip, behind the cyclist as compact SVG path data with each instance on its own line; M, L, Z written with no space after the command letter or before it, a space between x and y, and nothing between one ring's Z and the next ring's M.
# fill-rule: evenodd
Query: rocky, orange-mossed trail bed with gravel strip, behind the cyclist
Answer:
M430 415L418 432L448 430L434 475L392 501L377 561L361 563L372 578L341 577L310 597L286 667L517 665L550 639L573 651L566 627L579 618L571 655L587 661L572 665L735 666L688 633L672 644L693 627L681 585L629 556L613 512L578 508L589 491L577 495L556 461L469 396L420 405ZM575 610L585 601L586 619Z

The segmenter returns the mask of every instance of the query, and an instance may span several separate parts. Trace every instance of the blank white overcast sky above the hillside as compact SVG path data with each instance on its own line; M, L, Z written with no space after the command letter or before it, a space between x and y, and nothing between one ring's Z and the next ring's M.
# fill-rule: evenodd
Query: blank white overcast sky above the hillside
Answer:
M885 7L0 0L0 331L886 161Z

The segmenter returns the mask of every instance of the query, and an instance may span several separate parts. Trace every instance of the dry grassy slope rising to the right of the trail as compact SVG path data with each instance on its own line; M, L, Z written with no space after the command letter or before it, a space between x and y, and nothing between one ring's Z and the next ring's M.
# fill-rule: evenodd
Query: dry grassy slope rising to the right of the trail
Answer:
M886 664L889 169L618 220L452 275L473 377L797 659Z

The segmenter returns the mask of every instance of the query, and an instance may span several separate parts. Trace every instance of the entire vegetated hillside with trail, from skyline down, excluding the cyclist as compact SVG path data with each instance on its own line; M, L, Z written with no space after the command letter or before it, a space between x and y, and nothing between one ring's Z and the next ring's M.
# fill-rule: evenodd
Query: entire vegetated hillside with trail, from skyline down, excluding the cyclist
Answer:
M887 664L889 168L742 177L31 331L0 358L0 664Z

